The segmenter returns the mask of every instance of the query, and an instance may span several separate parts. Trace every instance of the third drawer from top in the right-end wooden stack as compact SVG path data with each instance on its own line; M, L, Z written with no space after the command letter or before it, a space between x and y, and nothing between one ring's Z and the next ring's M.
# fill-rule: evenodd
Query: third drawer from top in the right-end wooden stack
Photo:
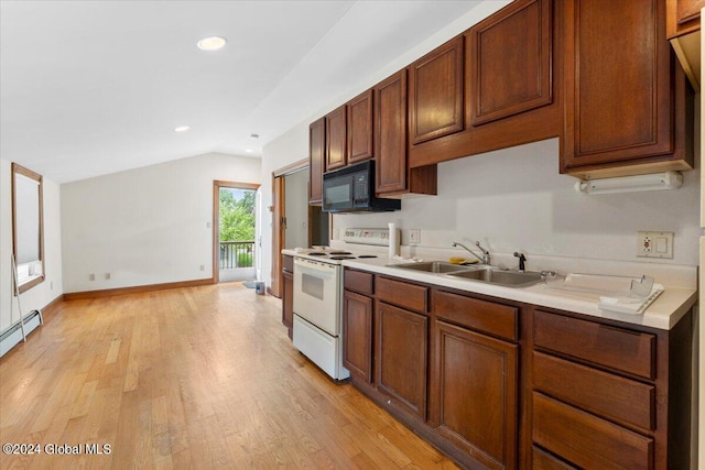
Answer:
M584 469L649 469L653 439L533 392L533 441Z

